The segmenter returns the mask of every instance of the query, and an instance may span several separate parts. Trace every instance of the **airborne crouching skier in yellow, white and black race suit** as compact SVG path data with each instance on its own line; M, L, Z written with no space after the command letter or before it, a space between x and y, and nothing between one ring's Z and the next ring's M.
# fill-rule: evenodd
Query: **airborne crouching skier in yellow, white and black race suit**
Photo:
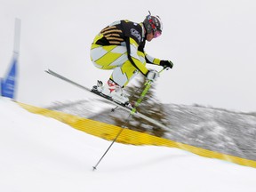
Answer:
M122 104L129 104L123 88L138 71L155 81L158 73L146 68L146 63L172 68L171 60L159 60L144 52L146 40L161 36L163 23L158 16L148 14L141 23L117 20L95 36L91 47L92 63L101 69L113 69L107 84L98 81L98 92Z

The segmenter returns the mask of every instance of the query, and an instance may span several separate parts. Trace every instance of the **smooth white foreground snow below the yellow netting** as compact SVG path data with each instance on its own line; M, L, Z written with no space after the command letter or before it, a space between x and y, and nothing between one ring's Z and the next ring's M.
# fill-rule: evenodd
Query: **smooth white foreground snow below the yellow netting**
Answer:
M0 98L0 191L255 191L256 169L177 148L110 142Z

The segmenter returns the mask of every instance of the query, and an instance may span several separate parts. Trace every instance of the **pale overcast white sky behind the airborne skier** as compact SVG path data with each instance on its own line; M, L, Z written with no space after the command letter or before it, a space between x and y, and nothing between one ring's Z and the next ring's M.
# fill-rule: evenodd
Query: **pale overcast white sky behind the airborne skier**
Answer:
M125 8L124 8L125 6ZM91 87L111 71L90 60L92 39L109 23L140 22L159 15L164 32L146 45L148 54L172 60L157 82L162 102L256 111L256 2L181 1L0 1L0 76L12 59L14 20L21 20L17 100L36 106L81 100L88 94L44 73L52 68ZM150 67L150 66L148 66Z

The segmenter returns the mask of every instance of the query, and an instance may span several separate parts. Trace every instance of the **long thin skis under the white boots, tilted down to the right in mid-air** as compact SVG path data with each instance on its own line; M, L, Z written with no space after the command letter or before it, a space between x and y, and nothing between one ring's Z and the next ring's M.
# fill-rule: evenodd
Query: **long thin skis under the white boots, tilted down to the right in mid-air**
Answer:
M81 89L83 89L84 91L86 92L92 92L92 94L94 95L97 95L98 97L100 97L100 99L105 99L108 101L109 104L112 104L116 107L120 107L120 108L124 108L124 110L126 110L127 112L129 112L130 114L132 114L132 116L139 116L140 118L143 118L145 120L147 120L148 122L150 122L151 124L155 124L156 126L158 127L161 127L162 129L164 130L169 130L164 124L160 124L159 122L157 122L155 119L152 119L148 116L145 116L141 113L139 113L135 108L132 108L130 106L127 106L127 105L124 105L124 104L121 104L121 103L118 103L116 102L115 100L111 100L111 98L108 98L108 97L104 97L102 94L100 94L100 92L97 92L94 88L92 89L89 89L87 87L85 87L84 85L82 84L77 84L76 82L70 80L69 78L65 77L65 76L61 76L60 74L52 71L51 69L47 69L45 70L45 72L47 74L50 74L51 76L55 76L65 82L68 82L69 84L73 84L75 85L76 87L79 87Z

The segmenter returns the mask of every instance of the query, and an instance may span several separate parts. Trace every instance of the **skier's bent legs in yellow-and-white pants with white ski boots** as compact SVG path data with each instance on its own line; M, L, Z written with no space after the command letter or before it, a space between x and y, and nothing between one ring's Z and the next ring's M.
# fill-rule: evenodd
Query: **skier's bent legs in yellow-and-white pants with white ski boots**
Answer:
M137 59L146 65L144 53L138 53ZM91 60L97 68L113 69L108 83L98 87L98 91L122 103L129 102L122 88L137 74L137 70L128 59L126 46L92 44Z

